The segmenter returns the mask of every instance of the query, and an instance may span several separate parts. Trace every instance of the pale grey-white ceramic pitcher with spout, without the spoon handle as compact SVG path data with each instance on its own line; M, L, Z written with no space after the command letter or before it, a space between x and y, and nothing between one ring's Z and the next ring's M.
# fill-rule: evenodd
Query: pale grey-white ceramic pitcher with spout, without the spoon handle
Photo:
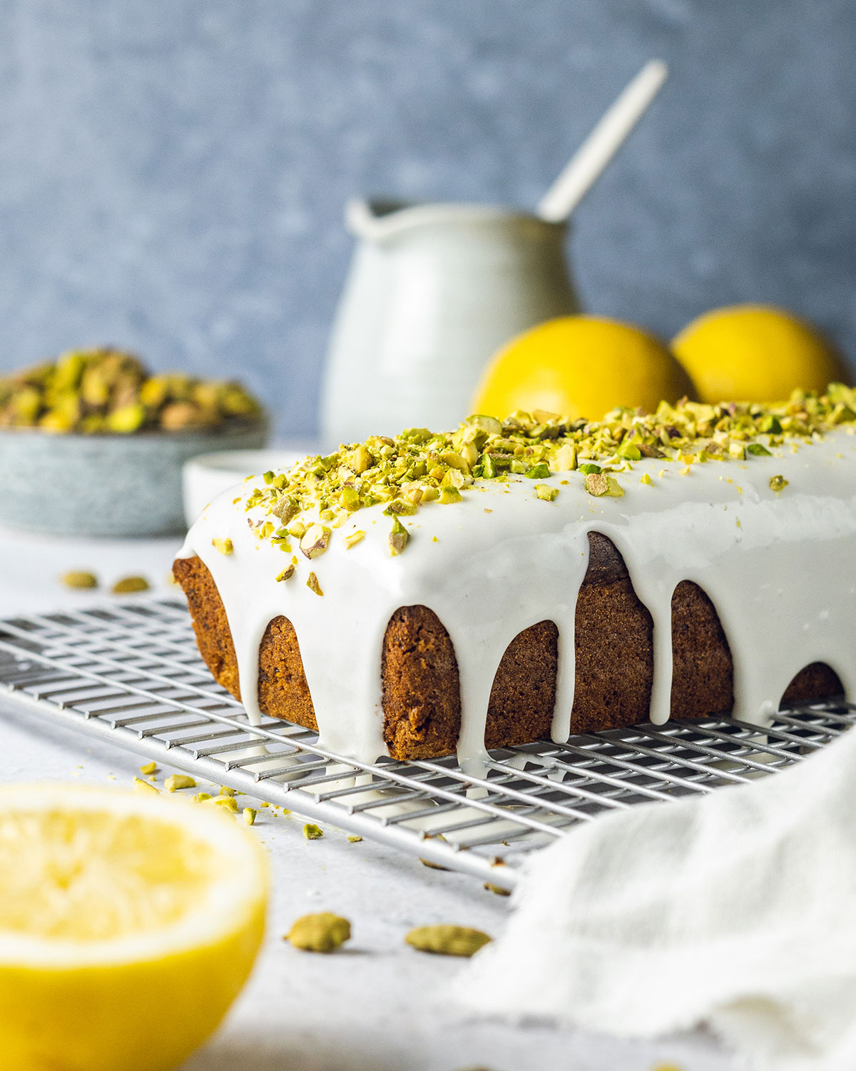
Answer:
M358 239L331 338L324 449L455 427L492 353L579 312L565 222L482 205L351 201Z

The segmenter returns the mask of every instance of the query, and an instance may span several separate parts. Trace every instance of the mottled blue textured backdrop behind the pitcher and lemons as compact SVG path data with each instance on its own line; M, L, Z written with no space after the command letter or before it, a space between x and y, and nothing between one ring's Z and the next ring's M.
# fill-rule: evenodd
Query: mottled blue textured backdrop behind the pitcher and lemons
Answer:
M779 302L853 358L855 54L851 0L0 0L0 368L114 342L311 431L346 197L533 206L655 55L587 307Z

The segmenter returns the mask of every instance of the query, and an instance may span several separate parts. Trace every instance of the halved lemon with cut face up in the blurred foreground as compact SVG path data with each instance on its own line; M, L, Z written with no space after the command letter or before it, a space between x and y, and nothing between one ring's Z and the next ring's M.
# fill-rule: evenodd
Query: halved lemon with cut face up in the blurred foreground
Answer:
M219 809L0 789L0 1068L174 1068L246 981L268 883L258 841Z

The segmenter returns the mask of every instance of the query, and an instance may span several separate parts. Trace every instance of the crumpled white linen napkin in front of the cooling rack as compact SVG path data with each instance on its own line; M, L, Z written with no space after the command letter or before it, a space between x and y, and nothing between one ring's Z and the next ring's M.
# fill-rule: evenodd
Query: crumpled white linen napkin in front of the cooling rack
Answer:
M856 731L770 776L613 813L538 853L464 1010L856 1068Z

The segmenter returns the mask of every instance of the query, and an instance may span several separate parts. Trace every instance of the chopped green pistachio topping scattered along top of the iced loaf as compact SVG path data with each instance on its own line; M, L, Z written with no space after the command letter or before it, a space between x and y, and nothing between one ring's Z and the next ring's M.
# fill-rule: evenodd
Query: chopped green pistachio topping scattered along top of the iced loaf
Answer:
M335 530L356 511L380 506L394 518L389 549L400 554L407 530L399 518L430 503L460 502L489 481L579 472L571 482L583 481L588 494L617 498L624 489L616 476L646 458L675 463L686 474L700 462L752 461L789 440L810 442L841 425L856 433L856 389L842 383L831 383L824 394L794 391L775 405L682 399L661 402L655 412L612 409L599 421L541 410L502 421L476 414L454 432L414 427L396 438L374 435L306 457L287 472L265 472L257 485L250 483L245 508L260 511L260 519L249 519L260 540L287 549L288 538L297 539L311 559L327 549ZM641 480L651 483L647 472ZM535 494L552 500L545 488L555 491L537 484ZM364 537L363 530L345 536L346 547ZM322 593L315 574L306 583Z

